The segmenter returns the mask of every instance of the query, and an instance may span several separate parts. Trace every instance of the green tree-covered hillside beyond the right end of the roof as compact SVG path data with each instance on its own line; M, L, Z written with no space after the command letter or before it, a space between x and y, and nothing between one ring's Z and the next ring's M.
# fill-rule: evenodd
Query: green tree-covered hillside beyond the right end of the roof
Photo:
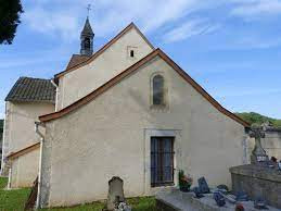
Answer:
M281 127L281 120L260 115L259 113L242 112L242 113L235 113L235 114L242 117L244 121L248 122L250 124L260 125L263 123L269 122L274 127Z

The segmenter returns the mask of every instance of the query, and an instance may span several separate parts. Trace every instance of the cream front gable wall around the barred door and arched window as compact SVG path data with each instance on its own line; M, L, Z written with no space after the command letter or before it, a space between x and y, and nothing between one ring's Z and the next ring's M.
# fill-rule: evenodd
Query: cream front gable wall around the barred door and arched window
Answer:
M161 73L168 107L151 107L151 76ZM41 206L105 199L107 182L124 179L126 197L153 195L150 136L175 136L178 170L196 181L230 185L229 167L243 163L244 126L218 111L170 65L155 58L71 113L47 122Z

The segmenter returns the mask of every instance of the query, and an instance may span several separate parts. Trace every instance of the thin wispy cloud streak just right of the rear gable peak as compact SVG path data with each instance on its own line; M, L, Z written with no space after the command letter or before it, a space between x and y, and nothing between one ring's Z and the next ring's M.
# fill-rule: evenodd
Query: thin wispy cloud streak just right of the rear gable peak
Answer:
M165 42L175 42L195 35L204 35L218 29L218 24L210 24L204 20L189 20L177 28L164 35Z

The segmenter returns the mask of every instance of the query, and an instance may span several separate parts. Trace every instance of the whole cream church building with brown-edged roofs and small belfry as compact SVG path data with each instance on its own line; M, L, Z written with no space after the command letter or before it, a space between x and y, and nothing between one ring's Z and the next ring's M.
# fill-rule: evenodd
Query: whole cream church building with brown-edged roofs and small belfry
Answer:
M126 197L177 187L181 170L194 181L205 176L210 186L230 185L229 167L245 162L246 122L133 23L94 51L87 17L80 40L80 54L52 80L43 80L35 100L9 98L31 98L33 90L21 91L26 88L22 82L8 95L3 160L12 187L26 178L33 162L37 172L28 178L31 183L38 176L38 207L106 199L114 176L124 181ZM10 107L14 103L16 111ZM21 113L22 108L28 112ZM27 120L36 123L27 125Z

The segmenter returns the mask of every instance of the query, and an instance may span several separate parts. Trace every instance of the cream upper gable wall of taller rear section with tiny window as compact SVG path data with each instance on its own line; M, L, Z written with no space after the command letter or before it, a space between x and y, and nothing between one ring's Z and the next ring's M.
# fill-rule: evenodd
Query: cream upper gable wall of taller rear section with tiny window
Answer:
M129 55L130 49L135 50L133 58ZM92 62L60 77L58 109L61 110L90 94L152 50L132 27Z

